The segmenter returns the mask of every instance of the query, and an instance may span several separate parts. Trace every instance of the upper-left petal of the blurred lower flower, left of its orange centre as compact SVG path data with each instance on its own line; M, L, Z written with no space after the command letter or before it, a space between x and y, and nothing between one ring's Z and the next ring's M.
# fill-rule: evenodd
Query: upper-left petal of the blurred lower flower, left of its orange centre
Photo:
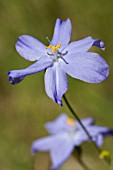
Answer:
M68 116L65 113L62 113L58 118L56 118L52 122L48 122L45 124L45 128L48 130L50 134L57 134L61 133L62 131L66 130L66 120Z

